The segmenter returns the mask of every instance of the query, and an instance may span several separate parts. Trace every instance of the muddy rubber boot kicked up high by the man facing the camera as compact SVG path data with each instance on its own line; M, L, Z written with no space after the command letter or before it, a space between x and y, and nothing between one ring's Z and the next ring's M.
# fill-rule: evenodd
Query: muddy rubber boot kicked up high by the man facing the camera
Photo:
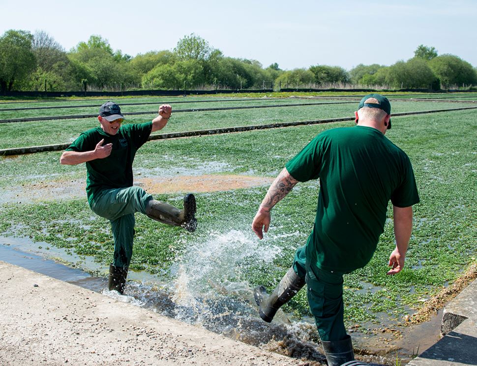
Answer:
M197 229L195 211L196 203L192 193L184 196L184 209L182 210L156 200L150 200L146 207L146 215L151 219L163 224L180 226L191 233Z

